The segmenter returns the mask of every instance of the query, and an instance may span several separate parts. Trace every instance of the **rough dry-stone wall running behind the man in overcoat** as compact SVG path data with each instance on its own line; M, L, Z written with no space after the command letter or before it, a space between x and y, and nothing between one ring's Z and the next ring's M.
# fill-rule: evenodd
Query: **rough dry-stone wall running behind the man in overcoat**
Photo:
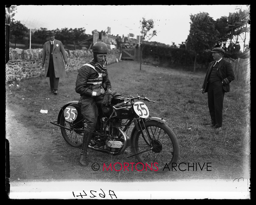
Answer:
M44 75L44 69L41 66L42 52L42 48L27 50L10 48L9 61L5 65L5 82L10 83ZM66 50L66 55L69 59L66 71L78 70L93 58L91 50ZM119 56L119 50L109 50L107 63L116 62Z

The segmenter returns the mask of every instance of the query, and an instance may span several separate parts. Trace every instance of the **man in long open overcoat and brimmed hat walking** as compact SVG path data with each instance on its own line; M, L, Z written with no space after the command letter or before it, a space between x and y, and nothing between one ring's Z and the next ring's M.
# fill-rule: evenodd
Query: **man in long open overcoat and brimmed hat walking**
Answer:
M47 34L50 37L50 40L44 43L41 64L42 68L44 68L45 63L44 77L50 78L51 91L49 93L57 95L59 78L67 76L63 58L66 67L68 66L68 58L62 42L55 39L55 34L54 31L50 31Z

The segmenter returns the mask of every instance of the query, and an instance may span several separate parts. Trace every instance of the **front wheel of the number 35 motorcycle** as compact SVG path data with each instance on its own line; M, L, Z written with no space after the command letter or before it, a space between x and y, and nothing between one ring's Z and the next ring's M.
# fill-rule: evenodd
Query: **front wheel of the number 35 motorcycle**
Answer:
M179 144L173 131L164 123L155 120L144 122L141 131L132 137L131 152L140 162L137 170L152 170L165 173L179 158Z

